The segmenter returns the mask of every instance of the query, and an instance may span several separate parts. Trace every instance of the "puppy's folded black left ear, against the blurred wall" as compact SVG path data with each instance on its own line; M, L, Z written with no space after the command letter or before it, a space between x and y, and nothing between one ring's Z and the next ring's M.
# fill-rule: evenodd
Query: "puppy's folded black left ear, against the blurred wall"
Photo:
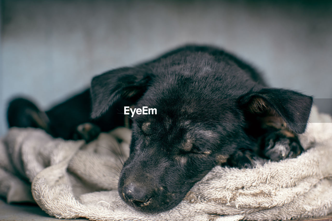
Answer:
M91 117L100 117L120 98L137 101L146 91L150 80L151 75L144 70L130 67L94 77L91 82Z

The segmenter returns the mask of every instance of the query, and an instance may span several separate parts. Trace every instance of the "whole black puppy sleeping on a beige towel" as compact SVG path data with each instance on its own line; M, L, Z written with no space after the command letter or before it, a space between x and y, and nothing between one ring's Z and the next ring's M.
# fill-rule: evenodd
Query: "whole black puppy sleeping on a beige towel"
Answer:
M23 101L29 105L22 105ZM81 134L76 138L84 138L88 131L92 135L86 140L90 140L98 128L112 129L120 125L114 119L129 113L125 117L131 120L130 156L118 191L128 205L155 213L180 203L216 165L251 168L258 158L278 161L298 156L303 149L297 134L305 131L311 105L312 97L267 87L251 66L219 48L186 45L155 60L94 77L90 92L55 111L43 113L33 103L16 99L9 107L8 121L10 126L20 126L13 123L13 115L23 110L23 118L29 115L30 124L53 136L73 139L70 130L76 128ZM129 107L136 111L128 111ZM156 114L137 111L144 107L155 109ZM58 127L68 124L71 129L56 134L55 120Z

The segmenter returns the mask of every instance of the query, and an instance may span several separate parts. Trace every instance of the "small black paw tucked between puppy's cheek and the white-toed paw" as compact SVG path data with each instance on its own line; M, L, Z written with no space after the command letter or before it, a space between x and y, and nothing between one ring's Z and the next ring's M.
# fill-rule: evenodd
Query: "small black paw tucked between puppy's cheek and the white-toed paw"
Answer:
M230 155L227 159L227 164L231 167L243 168L253 168L256 166L254 161L255 154L250 150L239 150L234 154Z

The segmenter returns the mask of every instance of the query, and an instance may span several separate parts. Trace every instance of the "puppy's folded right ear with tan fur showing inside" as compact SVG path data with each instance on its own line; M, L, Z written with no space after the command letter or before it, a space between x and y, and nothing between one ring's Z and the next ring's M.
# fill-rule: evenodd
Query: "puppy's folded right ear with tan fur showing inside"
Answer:
M290 130L303 133L309 118L312 97L291 90L264 88L244 95L239 103L243 110L252 114L281 117Z

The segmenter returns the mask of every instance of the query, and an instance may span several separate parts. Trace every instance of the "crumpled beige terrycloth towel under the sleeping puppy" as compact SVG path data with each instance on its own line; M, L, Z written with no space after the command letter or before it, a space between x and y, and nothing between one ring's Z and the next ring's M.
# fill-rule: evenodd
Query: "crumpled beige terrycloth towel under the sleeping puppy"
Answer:
M332 212L332 119L312 109L306 152L254 169L216 166L176 208L143 214L117 192L130 130L83 141L53 139L38 129L12 128L0 142L0 194L36 201L58 218L91 220L287 220ZM119 143L120 142L120 143ZM32 185L30 184L32 182ZM32 194L31 194L32 192Z

